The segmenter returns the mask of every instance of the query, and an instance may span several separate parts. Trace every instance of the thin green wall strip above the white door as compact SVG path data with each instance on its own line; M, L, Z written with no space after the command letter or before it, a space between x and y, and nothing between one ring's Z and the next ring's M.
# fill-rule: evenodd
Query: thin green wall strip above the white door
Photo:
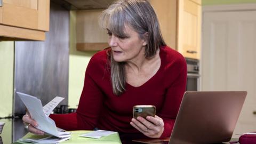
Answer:
M202 0L202 5L256 3L256 0Z

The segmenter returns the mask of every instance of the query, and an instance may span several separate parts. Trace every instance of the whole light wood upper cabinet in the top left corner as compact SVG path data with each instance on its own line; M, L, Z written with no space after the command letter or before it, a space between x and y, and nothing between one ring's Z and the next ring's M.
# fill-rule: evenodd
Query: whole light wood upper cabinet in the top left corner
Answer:
M50 0L3 0L0 40L45 40L49 31Z

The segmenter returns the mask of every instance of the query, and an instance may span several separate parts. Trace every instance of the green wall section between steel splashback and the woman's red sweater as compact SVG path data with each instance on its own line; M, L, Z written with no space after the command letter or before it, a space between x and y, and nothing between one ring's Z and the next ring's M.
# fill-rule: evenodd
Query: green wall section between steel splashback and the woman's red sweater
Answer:
M95 51L81 52L76 50L76 11L70 11L69 26L68 105L70 108L77 108L83 90L85 70Z

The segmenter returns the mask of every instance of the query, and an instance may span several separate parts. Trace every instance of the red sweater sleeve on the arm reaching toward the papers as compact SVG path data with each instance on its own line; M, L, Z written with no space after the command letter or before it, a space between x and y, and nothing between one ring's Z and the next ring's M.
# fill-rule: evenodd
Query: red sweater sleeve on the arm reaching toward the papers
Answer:
M93 79L94 71L99 71L97 59L92 57L86 68L84 87L76 113L55 114L50 117L55 124L65 130L93 130L97 126L103 103L103 94ZM97 73L97 72L96 72Z

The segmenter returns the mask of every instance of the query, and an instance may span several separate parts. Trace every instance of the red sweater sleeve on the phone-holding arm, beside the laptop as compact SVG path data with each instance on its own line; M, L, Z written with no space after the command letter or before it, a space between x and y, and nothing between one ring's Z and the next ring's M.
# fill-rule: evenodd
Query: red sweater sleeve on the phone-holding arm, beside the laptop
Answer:
M172 71L175 71L175 77L169 89L166 91L164 105L158 114L164 121L164 132L161 138L170 137L175 118L177 117L183 94L186 89L187 65L186 60L182 57L173 63Z

